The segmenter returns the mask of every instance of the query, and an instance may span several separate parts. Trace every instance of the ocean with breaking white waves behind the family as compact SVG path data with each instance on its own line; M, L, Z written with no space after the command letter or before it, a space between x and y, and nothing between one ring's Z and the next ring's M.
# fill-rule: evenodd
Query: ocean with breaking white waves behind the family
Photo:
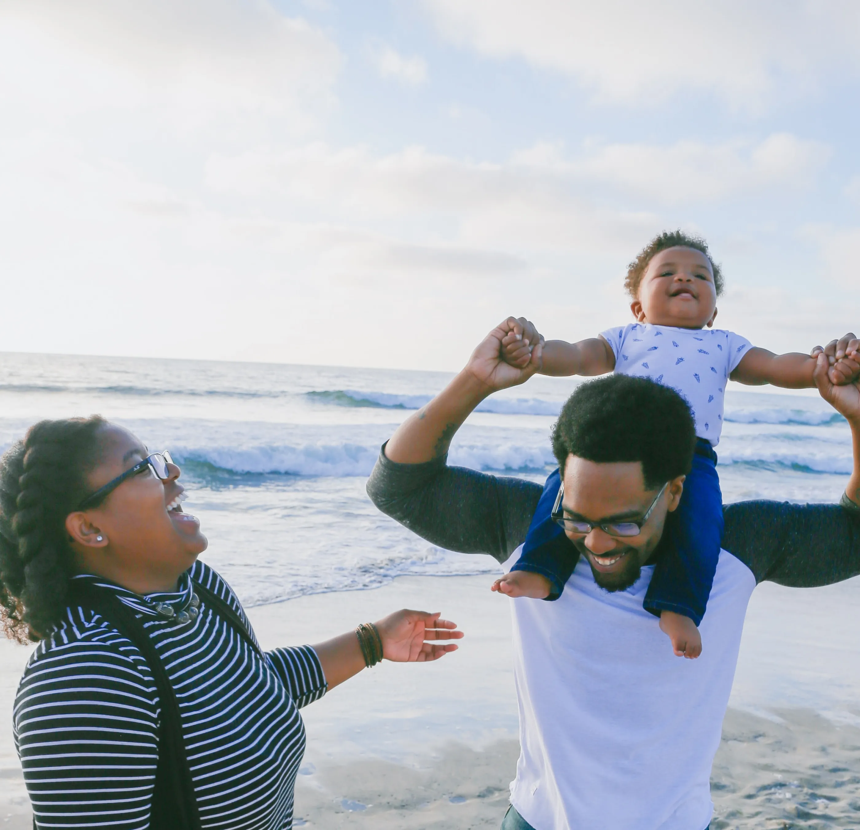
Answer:
M369 589L404 575L493 573L376 510L381 444L450 374L265 363L0 355L0 446L40 418L99 413L181 464L206 561L248 606ZM493 395L452 464L543 481L550 426L575 386L535 377ZM717 448L724 499L833 501L851 470L845 420L814 393L731 389Z

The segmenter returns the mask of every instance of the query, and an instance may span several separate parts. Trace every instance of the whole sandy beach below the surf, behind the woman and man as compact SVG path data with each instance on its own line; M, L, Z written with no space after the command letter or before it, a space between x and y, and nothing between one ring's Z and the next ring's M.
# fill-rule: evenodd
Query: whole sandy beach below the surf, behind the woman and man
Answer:
M304 709L297 827L499 827L518 754L507 601L488 577L402 577L381 589L249 609L266 647L313 643L397 607L441 610L467 636L432 665L383 664ZM716 756L714 830L860 826L860 583L753 595ZM833 626L839 638L827 637ZM9 712L28 650L3 643ZM30 827L8 721L0 824Z

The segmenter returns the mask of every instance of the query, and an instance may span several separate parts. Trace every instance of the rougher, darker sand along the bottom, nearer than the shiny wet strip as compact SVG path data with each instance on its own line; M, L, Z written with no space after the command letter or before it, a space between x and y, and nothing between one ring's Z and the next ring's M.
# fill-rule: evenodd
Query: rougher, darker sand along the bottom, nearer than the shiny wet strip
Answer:
M860 729L809 710L779 715L783 723L728 711L711 778L713 830L860 827ZM451 745L421 771L328 766L299 778L296 815L325 828L499 827L517 752L513 741L483 752Z

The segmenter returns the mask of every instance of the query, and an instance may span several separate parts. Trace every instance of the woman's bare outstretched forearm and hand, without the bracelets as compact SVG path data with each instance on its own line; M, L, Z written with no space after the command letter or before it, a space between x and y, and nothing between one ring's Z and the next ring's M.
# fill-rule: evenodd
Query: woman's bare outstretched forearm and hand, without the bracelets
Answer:
M458 640L463 632L448 619L439 619L439 612L409 611L404 608L380 619L375 625L382 640L383 656L392 662L429 662L438 660L449 651L456 651L457 644L437 642ZM349 680L365 668L359 638L355 632L347 632L313 646L322 663L322 670L329 691Z

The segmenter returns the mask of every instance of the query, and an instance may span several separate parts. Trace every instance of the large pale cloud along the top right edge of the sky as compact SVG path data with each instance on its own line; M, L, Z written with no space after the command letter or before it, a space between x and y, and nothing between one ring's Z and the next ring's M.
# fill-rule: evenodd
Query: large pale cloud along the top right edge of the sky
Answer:
M649 107L679 90L748 107L860 70L854 0L423 0L439 30L492 58L524 58L597 95Z

